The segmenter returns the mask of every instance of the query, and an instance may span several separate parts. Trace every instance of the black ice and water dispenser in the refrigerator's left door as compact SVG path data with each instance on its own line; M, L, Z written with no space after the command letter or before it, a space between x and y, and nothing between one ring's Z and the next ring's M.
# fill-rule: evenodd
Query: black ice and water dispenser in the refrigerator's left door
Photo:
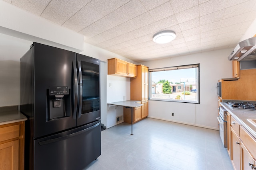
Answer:
M51 86L48 93L48 116L47 121L55 118L70 116L66 105L68 104L68 86Z

